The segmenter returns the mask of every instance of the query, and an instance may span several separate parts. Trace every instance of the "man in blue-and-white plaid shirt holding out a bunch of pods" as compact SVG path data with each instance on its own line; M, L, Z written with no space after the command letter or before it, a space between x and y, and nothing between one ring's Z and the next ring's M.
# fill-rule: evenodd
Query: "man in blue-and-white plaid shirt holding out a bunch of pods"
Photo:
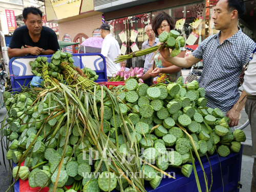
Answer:
M229 126L238 125L238 76L256 47L255 42L237 26L238 18L244 11L242 0L220 0L212 17L215 28L220 30L218 34L207 37L186 58L173 58L168 49L160 50L167 62L181 68L191 67L203 59L204 68L198 81L200 87L206 90L207 106L226 112L231 120ZM158 74L161 71L156 68L153 73Z

